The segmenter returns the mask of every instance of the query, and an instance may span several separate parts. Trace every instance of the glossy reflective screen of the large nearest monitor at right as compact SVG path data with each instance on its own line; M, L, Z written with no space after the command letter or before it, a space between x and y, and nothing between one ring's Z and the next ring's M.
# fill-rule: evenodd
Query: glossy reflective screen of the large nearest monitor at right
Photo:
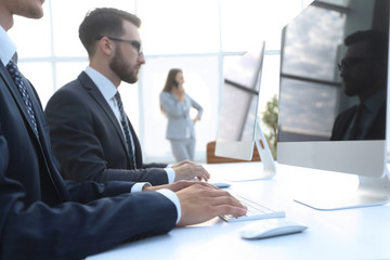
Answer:
M278 141L385 139L389 22L379 1L314 2L285 27Z

